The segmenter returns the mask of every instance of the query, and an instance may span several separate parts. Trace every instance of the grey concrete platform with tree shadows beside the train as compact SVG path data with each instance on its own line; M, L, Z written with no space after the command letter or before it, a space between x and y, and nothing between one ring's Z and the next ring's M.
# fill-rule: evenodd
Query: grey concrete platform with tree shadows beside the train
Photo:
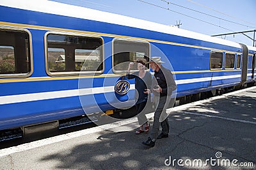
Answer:
M256 169L256 87L169 111L154 148L131 118L0 150L0 169Z

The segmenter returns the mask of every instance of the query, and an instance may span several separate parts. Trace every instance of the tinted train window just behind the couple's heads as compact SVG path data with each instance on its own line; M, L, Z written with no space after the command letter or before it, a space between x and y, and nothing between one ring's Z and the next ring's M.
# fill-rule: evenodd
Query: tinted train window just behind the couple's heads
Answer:
M117 72L126 72L128 63L137 59L149 61L149 43L136 42L128 40L113 41L113 70ZM149 68L149 64L146 65ZM137 68L132 68L136 70Z

